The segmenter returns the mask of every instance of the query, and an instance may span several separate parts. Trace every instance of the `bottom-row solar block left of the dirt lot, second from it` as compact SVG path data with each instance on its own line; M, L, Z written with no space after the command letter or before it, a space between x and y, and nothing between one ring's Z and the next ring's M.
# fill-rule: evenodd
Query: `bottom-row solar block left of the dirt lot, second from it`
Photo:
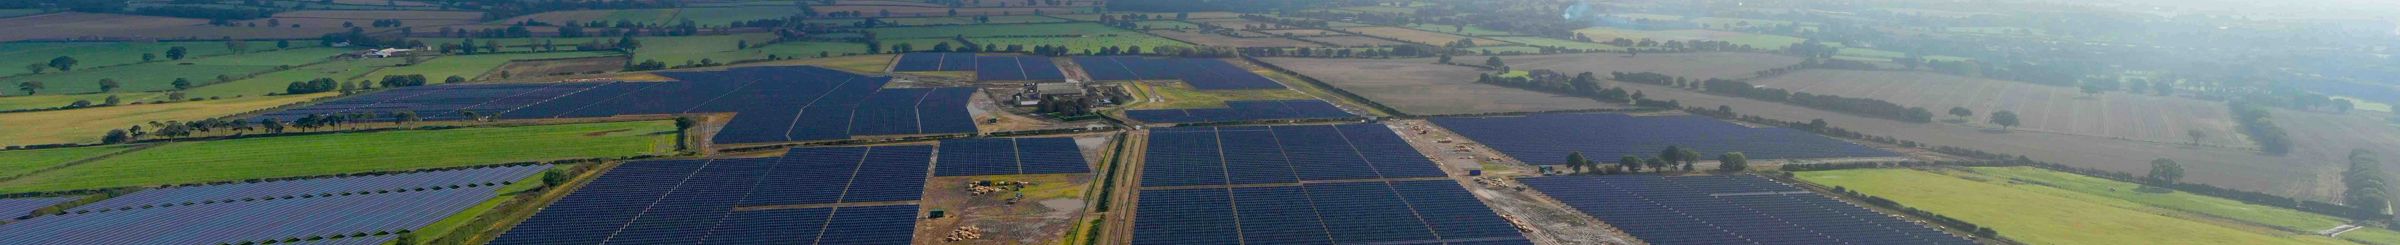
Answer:
M708 231L706 245L809 245L826 228L833 209L734 211Z

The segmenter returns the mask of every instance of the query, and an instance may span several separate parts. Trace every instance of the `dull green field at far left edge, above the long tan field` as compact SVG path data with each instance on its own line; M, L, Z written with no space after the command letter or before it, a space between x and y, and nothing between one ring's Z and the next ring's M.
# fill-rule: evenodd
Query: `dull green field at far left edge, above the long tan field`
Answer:
M252 43L257 46L257 43ZM19 82L43 82L48 89L41 94L91 94L101 91L101 79L118 79L115 91L168 91L175 89L175 79L190 79L194 86L214 84L218 74L247 77L252 72L269 72L278 65L307 65L334 58L343 53L341 48L293 48L293 50L259 50L242 55L216 55L197 58L182 62L142 62L98 70L74 70L74 72L46 72L26 77L0 79L5 84ZM185 65L190 62L190 65ZM22 91L17 94L22 96Z

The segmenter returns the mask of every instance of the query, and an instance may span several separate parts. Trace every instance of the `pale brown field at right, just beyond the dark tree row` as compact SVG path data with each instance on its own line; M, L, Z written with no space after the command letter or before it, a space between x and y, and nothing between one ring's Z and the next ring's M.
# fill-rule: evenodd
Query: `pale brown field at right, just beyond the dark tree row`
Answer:
M1754 79L1759 86L1790 89L1793 94L1834 94L1853 98L1884 98L1901 106L1946 113L1949 108L1975 110L1973 125L1982 125L1994 110L2014 110L2023 118L2018 130L2122 137L2141 142L2184 144L2194 142L2189 130L2198 130L2198 144L2251 149L2242 132L2234 132L2225 103L2098 94L2086 96L2071 86L2042 86L2026 82L1975 79L1932 72L1867 72L1867 70L1802 70L1793 74ZM1951 115L1939 115L1951 118Z

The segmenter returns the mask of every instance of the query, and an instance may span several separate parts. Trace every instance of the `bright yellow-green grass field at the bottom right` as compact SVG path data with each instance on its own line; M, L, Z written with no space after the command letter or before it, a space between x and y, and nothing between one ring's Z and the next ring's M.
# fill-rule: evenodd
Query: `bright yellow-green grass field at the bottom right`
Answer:
M1985 175L1982 171L2002 171ZM2042 183L2011 180L2004 168L1975 171L1810 171L1800 180L1836 185L1913 209L1934 211L1968 223L1999 231L2002 238L2033 245L2340 245L2323 235L2299 235L2256 226L2225 226L2184 219L2165 207L2148 207L2134 199L2102 197L2052 187ZM2033 178L2033 175L2028 175ZM2040 175L2057 178L2057 175ZM2134 192L2134 190L2110 190ZM2237 204L2237 202L2234 202ZM2270 209L2270 207L2239 207ZM2330 226L2328 226L2330 228Z

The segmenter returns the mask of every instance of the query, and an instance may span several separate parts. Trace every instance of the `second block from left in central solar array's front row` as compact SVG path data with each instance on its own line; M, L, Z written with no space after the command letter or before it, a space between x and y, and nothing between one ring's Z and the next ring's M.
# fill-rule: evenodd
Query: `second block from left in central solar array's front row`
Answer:
M1301 187L1238 187L1241 240L1248 245L1332 245Z

